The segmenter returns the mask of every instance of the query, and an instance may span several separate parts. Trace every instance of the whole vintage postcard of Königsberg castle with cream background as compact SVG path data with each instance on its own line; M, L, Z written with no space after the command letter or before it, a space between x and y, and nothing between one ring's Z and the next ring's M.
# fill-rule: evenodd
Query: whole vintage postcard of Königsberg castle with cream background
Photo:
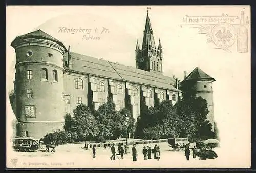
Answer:
M249 168L250 6L7 6L7 168Z

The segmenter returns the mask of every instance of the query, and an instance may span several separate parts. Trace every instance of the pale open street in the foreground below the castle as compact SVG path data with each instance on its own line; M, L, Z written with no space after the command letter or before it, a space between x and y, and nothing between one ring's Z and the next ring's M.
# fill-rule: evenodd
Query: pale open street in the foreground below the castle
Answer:
M149 146L153 149L155 144ZM66 144L59 145L55 148L55 152L45 152L45 149L39 149L37 152L12 152L12 158L18 158L16 168L196 168L196 167L225 167L221 148L214 149L218 158L199 160L192 158L187 161L183 151L172 151L167 143L158 143L161 154L159 161L154 159L144 160L142 154L143 146L136 145L138 157L137 161L132 161L132 146L129 146L129 154L124 155L124 159L118 155L119 159L111 160L111 149L96 148L96 158L93 158L92 148L84 149L84 144ZM115 147L117 152L117 147ZM50 149L52 150L52 149ZM191 149L190 149L191 150ZM9 163L11 167L12 164ZM223 166L221 166L223 165ZM217 166L217 167L218 167Z

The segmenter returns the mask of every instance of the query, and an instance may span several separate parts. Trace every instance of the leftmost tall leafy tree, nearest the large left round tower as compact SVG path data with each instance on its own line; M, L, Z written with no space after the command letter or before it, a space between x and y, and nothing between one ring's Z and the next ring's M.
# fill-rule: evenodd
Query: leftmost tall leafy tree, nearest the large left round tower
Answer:
M73 113L74 117L71 131L76 132L80 140L85 139L87 136L98 135L98 123L91 114L91 110L88 106L78 104L76 109L73 110Z

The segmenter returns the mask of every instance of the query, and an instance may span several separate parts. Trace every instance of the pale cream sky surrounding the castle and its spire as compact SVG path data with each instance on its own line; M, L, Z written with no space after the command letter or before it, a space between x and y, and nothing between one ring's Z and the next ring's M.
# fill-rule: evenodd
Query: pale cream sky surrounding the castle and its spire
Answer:
M72 52L136 67L136 41L138 39L141 48L146 10L147 6L8 6L7 93L13 89L15 50L10 44L16 36L41 29L62 41L66 48L70 46ZM198 23L196 26L184 22L184 17L189 16L199 16L194 17L197 19L202 16L209 19L209 16L222 14L230 16L226 18L240 17L242 10L250 21L249 6L151 6L148 14L156 47L159 38L161 39L163 74L170 77L175 75L182 81L184 71L188 75L199 67L216 79L213 84L214 116L220 131L221 144L226 147L232 145L229 149L235 152L235 146L240 147L245 142L247 150L241 155L245 158L242 161L246 161L250 152L250 44L247 53L238 53L236 42L233 45L230 43L230 52L216 49L215 44L207 42L209 37L206 34L199 34L198 29L193 28L206 26L205 24ZM215 26L217 23L209 21L207 24ZM238 27L239 19L236 18L231 24ZM62 27L91 29L91 32L59 32ZM250 27L247 28L250 34ZM86 40L82 39L83 35L100 39ZM14 117L12 111L8 113L8 117Z

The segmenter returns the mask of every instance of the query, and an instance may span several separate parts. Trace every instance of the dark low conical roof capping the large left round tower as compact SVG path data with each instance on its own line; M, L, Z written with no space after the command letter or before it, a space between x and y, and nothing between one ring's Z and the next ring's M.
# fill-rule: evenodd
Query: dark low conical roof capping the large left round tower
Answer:
M45 33L44 31L42 30L36 30L36 31L33 31L33 32L30 32L28 34L25 34L25 35L20 35L20 36L17 36L11 43L11 46L12 47L15 47L15 42L16 41L20 41L20 40L23 40L23 39L26 39L26 38L38 38L38 39L47 39L47 40L51 40L51 41L54 41L56 42L58 45L62 46L64 49L65 49L65 52L67 52L67 49L66 47L63 45L63 43L59 40L57 40L56 38L52 37L51 35Z

